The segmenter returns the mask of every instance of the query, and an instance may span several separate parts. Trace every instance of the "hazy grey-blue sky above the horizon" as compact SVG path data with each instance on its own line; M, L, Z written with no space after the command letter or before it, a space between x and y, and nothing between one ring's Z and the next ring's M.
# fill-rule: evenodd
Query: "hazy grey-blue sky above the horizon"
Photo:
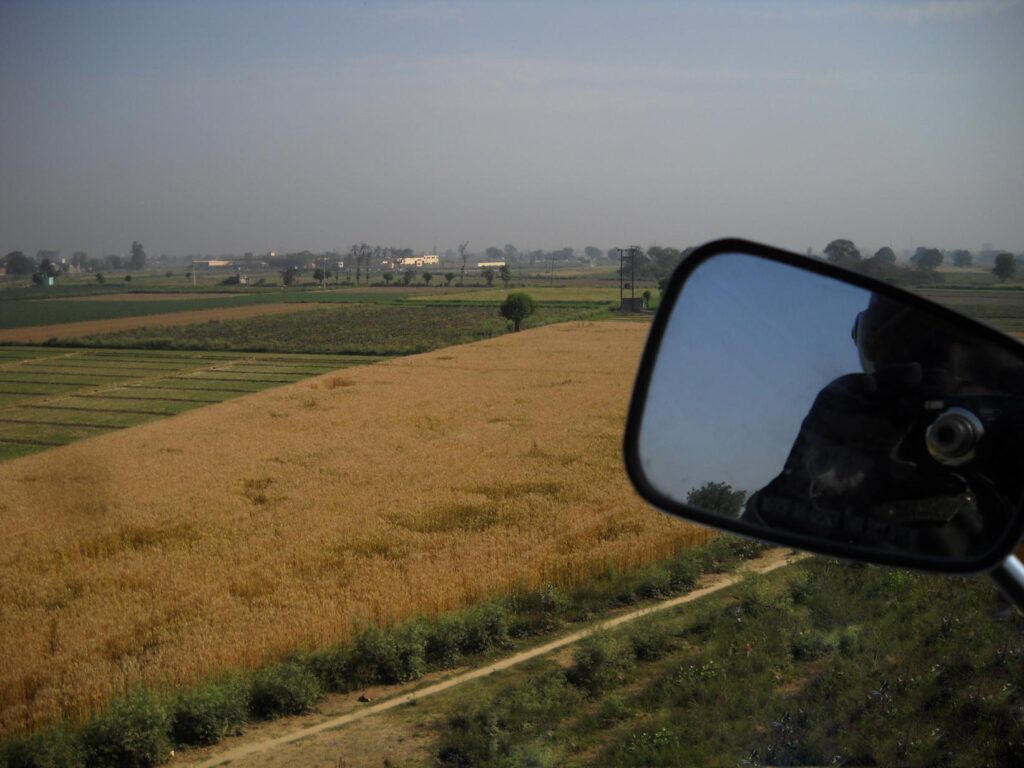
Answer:
M0 0L0 252L1024 250L1024 5Z

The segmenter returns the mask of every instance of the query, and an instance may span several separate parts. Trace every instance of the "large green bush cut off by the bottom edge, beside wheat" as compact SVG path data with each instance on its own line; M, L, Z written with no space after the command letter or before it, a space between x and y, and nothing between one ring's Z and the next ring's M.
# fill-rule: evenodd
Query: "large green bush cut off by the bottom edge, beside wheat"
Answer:
M90 768L148 768L171 754L171 717L147 690L136 689L111 701L106 712L82 731Z

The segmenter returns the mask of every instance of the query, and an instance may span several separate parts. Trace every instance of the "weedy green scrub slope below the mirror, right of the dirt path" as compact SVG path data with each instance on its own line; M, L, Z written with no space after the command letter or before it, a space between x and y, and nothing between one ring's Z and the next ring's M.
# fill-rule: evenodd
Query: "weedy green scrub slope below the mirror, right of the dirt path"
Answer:
M1016 764L1024 621L998 611L985 579L806 561L594 638L567 667L464 686L433 705L434 759Z

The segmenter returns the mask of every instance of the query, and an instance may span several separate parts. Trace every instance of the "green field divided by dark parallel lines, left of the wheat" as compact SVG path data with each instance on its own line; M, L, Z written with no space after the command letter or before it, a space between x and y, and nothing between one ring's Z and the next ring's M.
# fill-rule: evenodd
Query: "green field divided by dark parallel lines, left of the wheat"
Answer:
M0 347L0 461L380 359Z

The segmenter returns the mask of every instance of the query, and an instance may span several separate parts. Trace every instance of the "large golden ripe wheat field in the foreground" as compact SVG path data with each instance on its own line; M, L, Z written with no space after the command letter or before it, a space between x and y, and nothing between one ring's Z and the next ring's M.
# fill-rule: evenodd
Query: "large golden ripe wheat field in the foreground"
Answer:
M0 465L0 734L705 541L622 468L645 333L510 334Z

